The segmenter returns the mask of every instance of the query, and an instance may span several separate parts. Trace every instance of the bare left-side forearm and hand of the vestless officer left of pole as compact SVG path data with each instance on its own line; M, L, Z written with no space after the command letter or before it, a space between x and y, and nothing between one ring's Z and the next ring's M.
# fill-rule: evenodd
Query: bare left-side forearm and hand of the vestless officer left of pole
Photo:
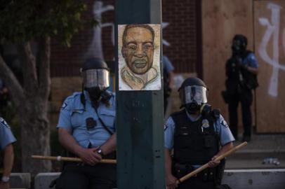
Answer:
M83 148L81 147L71 134L71 131L59 127L58 128L58 141L69 152L74 153L81 158L83 162L88 165L95 165L102 160L101 155L94 153L99 147L96 148Z

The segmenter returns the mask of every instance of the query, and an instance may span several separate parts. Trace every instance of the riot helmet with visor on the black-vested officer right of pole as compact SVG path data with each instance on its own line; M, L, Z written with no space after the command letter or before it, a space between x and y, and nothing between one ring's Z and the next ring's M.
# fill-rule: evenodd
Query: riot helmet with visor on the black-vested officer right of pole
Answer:
M207 102L207 87L199 78L187 78L178 89L182 106L189 113L200 111L201 106Z

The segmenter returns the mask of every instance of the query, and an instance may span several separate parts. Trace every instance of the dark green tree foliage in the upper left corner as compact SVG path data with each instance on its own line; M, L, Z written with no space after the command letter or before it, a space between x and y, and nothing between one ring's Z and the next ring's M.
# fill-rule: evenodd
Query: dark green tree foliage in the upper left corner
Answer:
M95 20L82 20L87 9L80 0L3 0L0 3L0 36L4 41L25 43L60 36L69 46L72 36Z

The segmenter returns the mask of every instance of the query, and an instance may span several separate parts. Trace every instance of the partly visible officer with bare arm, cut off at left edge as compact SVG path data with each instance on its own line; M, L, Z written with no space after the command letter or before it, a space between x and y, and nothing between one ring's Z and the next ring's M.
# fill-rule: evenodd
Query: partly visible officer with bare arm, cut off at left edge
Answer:
M9 180L10 174L13 168L14 151L13 143L16 141L15 137L11 132L11 128L4 118L0 117L0 149L4 151L4 167L0 181L1 189L10 188ZM1 167L2 168L2 167Z

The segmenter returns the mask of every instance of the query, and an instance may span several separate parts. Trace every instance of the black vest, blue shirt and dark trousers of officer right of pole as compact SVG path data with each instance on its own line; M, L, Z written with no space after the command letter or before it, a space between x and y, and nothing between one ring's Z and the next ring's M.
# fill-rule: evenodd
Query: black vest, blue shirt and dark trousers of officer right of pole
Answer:
M173 113L166 123L164 136L165 147L173 148L173 176L178 179L210 161L220 144L234 141L218 111L197 120L191 120L185 110ZM214 188L222 179L223 166L221 162L218 167L208 168L180 183L179 188Z

